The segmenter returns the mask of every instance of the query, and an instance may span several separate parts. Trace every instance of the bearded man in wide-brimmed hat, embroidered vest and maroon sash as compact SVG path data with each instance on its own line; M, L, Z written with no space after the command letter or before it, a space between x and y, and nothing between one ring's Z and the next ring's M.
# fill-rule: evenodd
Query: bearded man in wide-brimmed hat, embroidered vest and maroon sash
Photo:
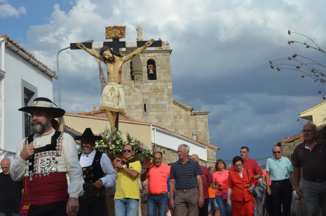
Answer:
M51 124L65 110L53 107L48 98L36 98L19 111L31 114L33 133L18 144L11 163L12 179L24 182L22 204L26 206L22 211L28 211L29 216L75 215L84 183L76 143L69 134L55 131Z

